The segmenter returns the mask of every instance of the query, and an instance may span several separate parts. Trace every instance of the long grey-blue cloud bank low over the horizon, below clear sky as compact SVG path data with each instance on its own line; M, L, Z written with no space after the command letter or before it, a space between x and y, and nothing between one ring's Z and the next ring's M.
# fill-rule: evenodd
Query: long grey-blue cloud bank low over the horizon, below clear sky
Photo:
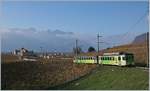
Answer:
M89 46L97 48L97 35L87 33L73 33L61 30L37 30L35 28L1 28L2 36L2 51L12 51L16 48L26 47L32 50L39 51L42 46L45 51L72 51L75 47L75 40L78 39L80 46L84 51L87 51ZM126 40L122 39L122 35L103 36L100 48L112 47L118 44L131 42L135 35L128 35Z

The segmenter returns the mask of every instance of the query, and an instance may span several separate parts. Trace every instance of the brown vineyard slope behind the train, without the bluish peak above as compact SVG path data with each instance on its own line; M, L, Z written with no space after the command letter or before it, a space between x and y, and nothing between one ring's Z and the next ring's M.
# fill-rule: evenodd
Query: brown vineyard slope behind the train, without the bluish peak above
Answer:
M117 46L114 48L110 48L105 52L129 52L134 54L135 64L139 66L146 66L148 63L148 53L147 53L147 46L146 44L128 44L123 46Z

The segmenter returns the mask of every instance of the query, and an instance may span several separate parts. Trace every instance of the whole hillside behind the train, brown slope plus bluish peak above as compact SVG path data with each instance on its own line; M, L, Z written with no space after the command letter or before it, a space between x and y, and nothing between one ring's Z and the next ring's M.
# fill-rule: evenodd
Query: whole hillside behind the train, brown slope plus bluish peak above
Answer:
M136 65L146 66L148 63L148 48L146 33L137 36L131 44L116 46L105 52L130 52L134 54Z

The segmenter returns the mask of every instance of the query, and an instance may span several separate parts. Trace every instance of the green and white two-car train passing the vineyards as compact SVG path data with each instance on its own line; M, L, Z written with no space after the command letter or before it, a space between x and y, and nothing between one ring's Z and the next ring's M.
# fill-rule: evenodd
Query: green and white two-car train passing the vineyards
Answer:
M134 55L132 53L104 53L102 56L77 56L74 63L91 63L104 65L127 66L134 65Z

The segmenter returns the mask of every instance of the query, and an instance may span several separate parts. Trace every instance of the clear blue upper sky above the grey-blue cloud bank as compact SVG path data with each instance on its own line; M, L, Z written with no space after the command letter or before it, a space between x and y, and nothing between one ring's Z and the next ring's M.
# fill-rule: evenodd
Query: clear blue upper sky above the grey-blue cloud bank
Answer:
M3 2L0 26L5 28L60 29L101 33L129 31L148 10L148 2ZM147 13L148 14L148 13ZM134 29L148 31L147 18Z

